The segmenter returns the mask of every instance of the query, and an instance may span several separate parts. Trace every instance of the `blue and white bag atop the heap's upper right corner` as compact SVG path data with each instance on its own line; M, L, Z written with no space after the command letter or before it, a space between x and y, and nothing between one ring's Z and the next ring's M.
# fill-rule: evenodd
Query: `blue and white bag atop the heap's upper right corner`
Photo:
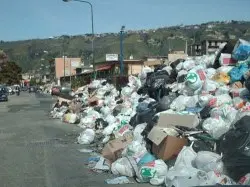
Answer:
M250 56L250 43L240 39L234 47L232 57L235 60L244 61Z

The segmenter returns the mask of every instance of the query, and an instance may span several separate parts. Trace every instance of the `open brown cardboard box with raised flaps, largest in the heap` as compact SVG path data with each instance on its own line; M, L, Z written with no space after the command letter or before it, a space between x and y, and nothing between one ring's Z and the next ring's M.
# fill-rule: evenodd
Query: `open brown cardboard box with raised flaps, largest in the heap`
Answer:
M173 126L194 128L198 124L199 119L196 115L160 114L157 125L148 134L148 139L153 142L152 152L162 160L169 160L177 156L188 141L186 138L168 136L164 128Z

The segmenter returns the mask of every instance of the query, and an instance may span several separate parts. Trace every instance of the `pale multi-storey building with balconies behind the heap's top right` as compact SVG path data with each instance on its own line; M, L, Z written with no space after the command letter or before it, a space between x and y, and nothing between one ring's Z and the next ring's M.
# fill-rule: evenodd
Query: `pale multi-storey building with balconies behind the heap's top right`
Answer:
M203 40L201 42L201 55L215 53L221 44L227 43L227 40Z

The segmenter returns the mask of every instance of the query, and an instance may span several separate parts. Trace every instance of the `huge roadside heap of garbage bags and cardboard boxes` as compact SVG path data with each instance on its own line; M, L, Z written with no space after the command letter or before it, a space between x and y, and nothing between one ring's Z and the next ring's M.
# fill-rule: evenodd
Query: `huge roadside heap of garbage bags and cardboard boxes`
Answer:
M144 67L117 90L94 80L51 115L78 124L78 143L100 153L93 170L109 184L168 187L250 184L250 43L213 55Z

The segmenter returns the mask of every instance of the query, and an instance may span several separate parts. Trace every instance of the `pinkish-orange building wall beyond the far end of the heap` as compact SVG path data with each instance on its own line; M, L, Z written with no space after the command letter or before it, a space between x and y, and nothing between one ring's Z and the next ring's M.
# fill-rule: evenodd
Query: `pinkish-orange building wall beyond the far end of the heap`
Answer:
M76 75L76 63L80 64L81 58L65 58L65 76ZM64 58L55 58L55 72L57 79L64 77Z

